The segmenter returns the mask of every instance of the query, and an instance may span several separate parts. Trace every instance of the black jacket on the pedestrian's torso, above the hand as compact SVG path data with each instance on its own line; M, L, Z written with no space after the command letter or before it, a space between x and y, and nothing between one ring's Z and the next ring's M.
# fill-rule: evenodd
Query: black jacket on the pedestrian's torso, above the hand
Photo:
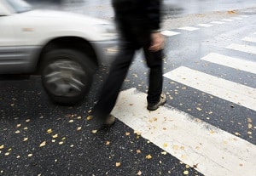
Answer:
M149 31L160 29L161 0L112 0L115 20L131 22Z

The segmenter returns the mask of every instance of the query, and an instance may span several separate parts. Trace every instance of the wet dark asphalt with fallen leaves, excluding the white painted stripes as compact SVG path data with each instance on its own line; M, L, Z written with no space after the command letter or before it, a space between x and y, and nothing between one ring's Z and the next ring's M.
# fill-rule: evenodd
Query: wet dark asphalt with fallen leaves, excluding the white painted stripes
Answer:
M241 43L242 37L255 32L253 10L240 10L236 14L224 11L203 17L184 15L179 20L190 25L193 21L206 23L238 14L249 17L214 28L183 31L178 36L166 37L164 73L183 65L256 88L255 75L220 65L208 65L200 60L210 52L218 52L255 61L253 54L227 53L224 49L230 43ZM173 21L176 22L166 20L165 29L179 31L177 23L172 25ZM74 106L53 104L44 92L40 77L1 76L0 175L177 176L187 172L191 176L202 175L143 139L119 120L112 128L92 132L94 124L87 117L95 105L106 73L108 68L97 72L90 94L81 104ZM138 52L123 89L137 88L146 93L147 74L143 56ZM256 145L255 111L166 78L164 91L168 95L167 105ZM198 111L197 107L202 111ZM253 127L249 128L249 124Z

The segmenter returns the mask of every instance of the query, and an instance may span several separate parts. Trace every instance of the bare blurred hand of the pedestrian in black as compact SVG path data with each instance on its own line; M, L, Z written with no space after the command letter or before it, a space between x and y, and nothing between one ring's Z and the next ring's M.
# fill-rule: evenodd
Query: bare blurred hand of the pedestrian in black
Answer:
M152 52L157 52L164 48L165 37L160 32L151 33L151 46L149 50Z

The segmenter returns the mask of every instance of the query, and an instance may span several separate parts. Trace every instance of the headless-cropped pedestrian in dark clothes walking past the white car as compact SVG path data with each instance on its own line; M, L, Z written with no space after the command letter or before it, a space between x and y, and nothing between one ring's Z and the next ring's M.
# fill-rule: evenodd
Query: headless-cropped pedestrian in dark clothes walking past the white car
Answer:
M143 49L148 76L148 111L166 103L162 94L162 59L164 37L160 33L161 0L112 0L115 22L120 34L119 54L110 67L100 97L93 109L98 125L111 126L115 117L110 115L125 80L133 57Z

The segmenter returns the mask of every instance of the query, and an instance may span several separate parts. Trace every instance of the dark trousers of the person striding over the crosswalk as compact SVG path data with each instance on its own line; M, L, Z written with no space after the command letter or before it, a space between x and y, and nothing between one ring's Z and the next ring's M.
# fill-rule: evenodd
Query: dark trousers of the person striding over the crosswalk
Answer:
M145 34L145 32L143 34ZM129 71L134 55L139 48L143 48L147 65L150 69L148 76L148 103L154 104L159 101L163 84L163 51L149 51L150 33L148 32L149 36L143 34L139 35L138 33L139 38L136 38L136 36L123 35L119 54L117 54L116 59L110 67L107 80L103 84L102 92L94 108L94 116L105 120L113 110L120 88L122 87L127 72Z

